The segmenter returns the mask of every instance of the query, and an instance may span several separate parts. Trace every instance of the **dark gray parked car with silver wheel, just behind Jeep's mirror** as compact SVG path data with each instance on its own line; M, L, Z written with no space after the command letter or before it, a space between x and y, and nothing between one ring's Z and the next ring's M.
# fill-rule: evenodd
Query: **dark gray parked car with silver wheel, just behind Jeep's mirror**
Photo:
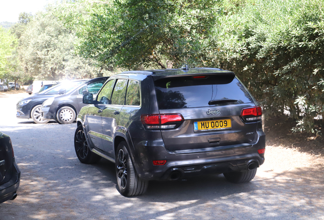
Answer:
M64 95L47 99L40 108L42 119L55 119L60 124L72 123L80 109L87 105L82 102L83 94L97 94L108 78L91 79Z

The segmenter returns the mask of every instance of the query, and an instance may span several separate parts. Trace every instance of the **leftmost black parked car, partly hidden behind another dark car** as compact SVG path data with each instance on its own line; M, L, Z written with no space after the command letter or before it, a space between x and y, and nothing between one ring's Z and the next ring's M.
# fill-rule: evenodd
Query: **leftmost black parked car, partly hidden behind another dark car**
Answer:
M63 95L70 92L74 88L85 84L89 79L78 79L62 82L57 86L53 86L48 90L29 96L28 98L21 99L17 102L17 118L21 119L33 119L35 123L45 124L49 120L42 120L40 107L43 102L51 97Z

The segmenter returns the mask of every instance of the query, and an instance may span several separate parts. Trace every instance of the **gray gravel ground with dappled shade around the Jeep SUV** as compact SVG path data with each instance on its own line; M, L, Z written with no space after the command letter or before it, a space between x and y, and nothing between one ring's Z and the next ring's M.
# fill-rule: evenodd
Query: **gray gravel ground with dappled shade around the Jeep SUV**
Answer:
M21 169L14 201L0 219L324 219L324 160L296 148L266 146L266 161L249 183L223 175L151 181L145 195L116 189L114 164L87 165L73 147L76 124L16 119L26 93L0 93L0 131L11 136Z

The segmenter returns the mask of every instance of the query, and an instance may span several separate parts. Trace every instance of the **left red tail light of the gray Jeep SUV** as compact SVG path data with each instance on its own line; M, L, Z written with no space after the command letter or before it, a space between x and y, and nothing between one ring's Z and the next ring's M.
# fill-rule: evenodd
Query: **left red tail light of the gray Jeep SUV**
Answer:
M141 122L146 129L173 129L184 121L181 114L141 115Z

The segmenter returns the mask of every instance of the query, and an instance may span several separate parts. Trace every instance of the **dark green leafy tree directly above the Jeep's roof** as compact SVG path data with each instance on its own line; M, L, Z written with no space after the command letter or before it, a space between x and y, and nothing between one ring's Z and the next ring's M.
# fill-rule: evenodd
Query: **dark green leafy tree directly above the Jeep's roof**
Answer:
M66 13L72 6L84 11ZM57 14L75 28L79 53L86 58L129 69L166 68L167 62L169 66L202 63L215 7L211 0L116 0L69 4L57 8Z

